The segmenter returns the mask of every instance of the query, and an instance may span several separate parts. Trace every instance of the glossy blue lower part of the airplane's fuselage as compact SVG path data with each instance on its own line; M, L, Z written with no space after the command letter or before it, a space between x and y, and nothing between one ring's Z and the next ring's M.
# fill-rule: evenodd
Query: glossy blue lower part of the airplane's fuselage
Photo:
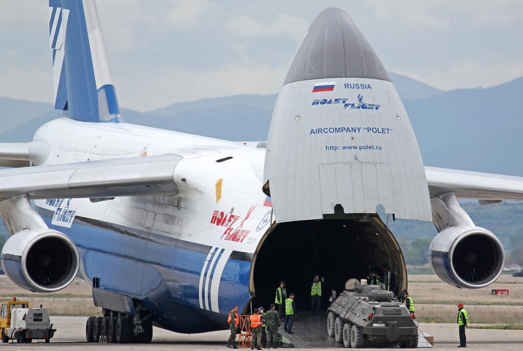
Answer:
M200 309L198 295L201 270L210 246L78 216L71 228L58 227L51 224L53 212L40 207L37 211L50 228L73 240L82 256L82 272L86 279L101 276L100 288L137 299L146 295L145 307L153 313L156 324L164 329L183 333L223 329L227 323L226 316L222 318L222 315L229 313L234 305L243 308L250 300L250 254L245 257L247 261L228 259L218 292L220 314L212 314ZM161 284L155 278L155 271L163 280ZM211 275L213 271L210 267ZM195 322L190 329L192 324L187 321L188 316L180 312L187 309L199 318L207 318L207 324Z

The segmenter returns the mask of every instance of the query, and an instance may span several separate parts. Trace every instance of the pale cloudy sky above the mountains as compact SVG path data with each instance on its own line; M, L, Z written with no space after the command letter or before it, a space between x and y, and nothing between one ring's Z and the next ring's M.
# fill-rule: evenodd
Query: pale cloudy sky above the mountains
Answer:
M98 0L120 105L276 93L322 9L344 9L386 69L440 89L523 75L521 1ZM0 96L52 100L45 0L0 3Z

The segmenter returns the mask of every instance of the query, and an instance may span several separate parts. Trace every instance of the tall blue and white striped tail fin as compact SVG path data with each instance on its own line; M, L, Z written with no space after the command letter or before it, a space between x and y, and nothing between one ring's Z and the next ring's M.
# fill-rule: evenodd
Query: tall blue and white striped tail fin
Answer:
M49 0L54 108L85 122L121 122L94 0Z

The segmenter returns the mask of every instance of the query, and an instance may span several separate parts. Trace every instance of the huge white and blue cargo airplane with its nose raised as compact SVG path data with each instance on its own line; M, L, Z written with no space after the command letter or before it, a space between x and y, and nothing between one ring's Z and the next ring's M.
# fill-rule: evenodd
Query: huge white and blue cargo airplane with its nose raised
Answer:
M49 4L63 117L0 143L1 261L29 291L89 281L105 317L87 320L88 341L224 329L281 279L306 301L315 272L341 291L384 265L399 296L405 261L377 207L434 222L429 261L449 285L501 273L501 243L457 198L521 200L523 178L424 167L389 74L343 10L306 32L267 142L232 142L125 123L94 0Z

